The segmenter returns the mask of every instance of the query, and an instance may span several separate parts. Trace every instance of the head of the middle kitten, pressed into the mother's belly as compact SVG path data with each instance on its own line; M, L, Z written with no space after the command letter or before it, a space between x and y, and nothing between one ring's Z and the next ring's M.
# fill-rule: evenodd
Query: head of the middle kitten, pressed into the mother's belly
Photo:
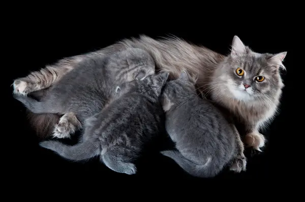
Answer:
M168 79L168 72L161 72L159 74L146 76L141 80L133 80L126 82L116 88L116 93L125 94L137 92L143 95L150 95L153 97L159 97L163 86Z

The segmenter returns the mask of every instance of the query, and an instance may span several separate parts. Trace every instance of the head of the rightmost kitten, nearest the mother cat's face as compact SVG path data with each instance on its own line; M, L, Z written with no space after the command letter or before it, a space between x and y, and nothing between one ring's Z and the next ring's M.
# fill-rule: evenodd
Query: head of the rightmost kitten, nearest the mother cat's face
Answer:
M179 78L168 81L161 95L161 104L166 112L174 105L180 105L186 100L197 96L196 79L186 71L180 73Z

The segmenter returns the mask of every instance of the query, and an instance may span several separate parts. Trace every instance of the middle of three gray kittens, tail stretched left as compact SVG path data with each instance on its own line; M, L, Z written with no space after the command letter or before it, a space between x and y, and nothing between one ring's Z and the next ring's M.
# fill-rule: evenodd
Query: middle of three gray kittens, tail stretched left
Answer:
M142 81L120 85L116 89L118 97L100 113L85 120L79 144L68 146L58 141L44 141L40 146L70 160L100 156L109 169L135 174L134 161L143 145L162 132L164 112L159 96L168 75L151 75Z

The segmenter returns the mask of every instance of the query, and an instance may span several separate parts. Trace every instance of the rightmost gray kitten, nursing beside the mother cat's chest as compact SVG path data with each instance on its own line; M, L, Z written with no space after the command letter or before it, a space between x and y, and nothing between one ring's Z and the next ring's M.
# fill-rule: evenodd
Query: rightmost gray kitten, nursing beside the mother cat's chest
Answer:
M186 72L167 82L162 93L166 130L177 150L161 152L195 177L218 175L226 165L246 170L242 142L235 125L209 100L197 96Z

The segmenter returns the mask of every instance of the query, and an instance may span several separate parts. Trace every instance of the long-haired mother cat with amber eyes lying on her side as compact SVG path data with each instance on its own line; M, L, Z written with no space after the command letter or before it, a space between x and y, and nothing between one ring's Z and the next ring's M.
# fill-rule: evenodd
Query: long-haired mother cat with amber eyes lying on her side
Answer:
M264 146L265 140L259 129L276 115L284 87L279 69L284 68L282 61L287 52L256 53L236 36L228 55L178 38L155 40L140 36L138 39L125 39L96 52L64 58L16 79L13 83L14 93L26 94L47 88L60 81L78 64L89 60L88 56L103 57L128 47L146 50L154 58L156 68L168 71L170 78L177 78L182 70L198 75L198 90L210 94L214 102L241 119L247 133L247 145L257 150ZM83 68L86 69L84 65Z

